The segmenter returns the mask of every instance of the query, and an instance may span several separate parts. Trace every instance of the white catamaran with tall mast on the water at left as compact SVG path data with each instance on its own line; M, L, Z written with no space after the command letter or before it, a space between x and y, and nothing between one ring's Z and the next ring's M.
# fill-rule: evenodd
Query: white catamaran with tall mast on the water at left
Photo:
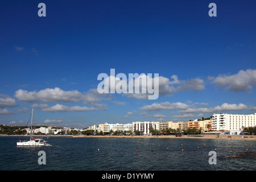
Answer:
M32 109L32 114L31 114L30 140L29 141L24 141L24 140L21 141L21 139L20 139L19 142L17 142L17 146L51 146L51 144L46 143L47 141L43 140L42 137L32 137L33 111L34 111L34 109ZM23 138L23 135L22 135L22 138Z

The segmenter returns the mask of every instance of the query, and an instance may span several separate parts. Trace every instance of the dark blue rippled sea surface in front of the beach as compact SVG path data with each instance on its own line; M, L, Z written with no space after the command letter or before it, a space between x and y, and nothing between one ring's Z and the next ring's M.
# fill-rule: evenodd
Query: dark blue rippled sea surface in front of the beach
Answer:
M0 137L1 171L256 170L256 143L249 140L46 137L52 146L17 147L19 138ZM46 164L38 163L39 151ZM216 152L216 164L209 164L210 151Z

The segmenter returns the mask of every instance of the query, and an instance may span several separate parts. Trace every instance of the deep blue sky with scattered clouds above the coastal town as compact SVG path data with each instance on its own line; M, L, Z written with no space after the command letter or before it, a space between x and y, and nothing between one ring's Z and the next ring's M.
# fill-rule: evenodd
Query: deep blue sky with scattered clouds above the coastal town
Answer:
M46 4L46 17L38 4ZM217 5L210 17L209 3ZM256 112L255 1L1 1L0 123L88 127ZM157 100L98 94L159 73Z

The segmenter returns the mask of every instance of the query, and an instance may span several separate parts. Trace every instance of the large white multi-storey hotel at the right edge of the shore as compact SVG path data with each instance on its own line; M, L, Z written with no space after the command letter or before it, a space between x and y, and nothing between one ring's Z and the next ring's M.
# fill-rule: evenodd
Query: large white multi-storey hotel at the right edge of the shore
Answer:
M214 130L242 130L243 127L256 126L255 114L213 114Z

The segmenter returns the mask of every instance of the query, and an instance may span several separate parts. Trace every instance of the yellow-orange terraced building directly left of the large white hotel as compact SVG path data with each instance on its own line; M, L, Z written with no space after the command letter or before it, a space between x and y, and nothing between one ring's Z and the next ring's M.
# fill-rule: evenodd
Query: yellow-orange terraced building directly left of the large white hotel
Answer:
M198 119L195 119L194 121L178 122L178 125L179 125L178 127L180 130L187 130L187 129L192 129L193 127L195 127L197 130L201 129L202 133L204 133L210 129L213 129L213 121L212 120L198 121Z

